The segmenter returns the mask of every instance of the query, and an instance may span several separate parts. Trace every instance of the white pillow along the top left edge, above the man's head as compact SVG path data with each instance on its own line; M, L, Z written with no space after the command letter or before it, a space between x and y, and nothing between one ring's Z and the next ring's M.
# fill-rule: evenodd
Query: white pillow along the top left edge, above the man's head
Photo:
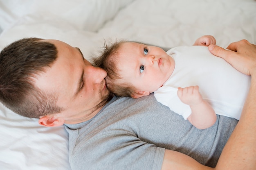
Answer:
M25 15L41 20L66 20L79 30L97 31L133 0L0 0L4 30Z

